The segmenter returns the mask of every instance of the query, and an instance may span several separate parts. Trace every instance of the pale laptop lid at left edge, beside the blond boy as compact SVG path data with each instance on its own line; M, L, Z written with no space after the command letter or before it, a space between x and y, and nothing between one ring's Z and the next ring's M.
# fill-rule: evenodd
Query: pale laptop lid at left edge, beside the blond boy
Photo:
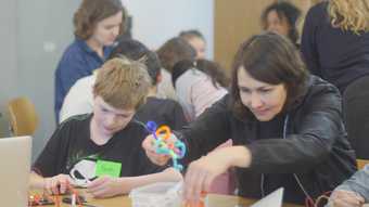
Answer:
M30 137L0 139L0 206L28 206Z

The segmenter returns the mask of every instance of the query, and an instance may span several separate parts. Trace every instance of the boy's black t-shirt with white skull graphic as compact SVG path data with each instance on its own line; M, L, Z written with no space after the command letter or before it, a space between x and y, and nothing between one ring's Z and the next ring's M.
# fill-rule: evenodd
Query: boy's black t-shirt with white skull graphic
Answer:
M81 174L92 179L97 160L122 164L120 177L149 174L164 169L145 156L141 142L148 132L142 126L130 121L105 144L98 145L90 139L91 117L91 114L78 115L62 122L35 161L34 170L43 177L73 172L77 178Z

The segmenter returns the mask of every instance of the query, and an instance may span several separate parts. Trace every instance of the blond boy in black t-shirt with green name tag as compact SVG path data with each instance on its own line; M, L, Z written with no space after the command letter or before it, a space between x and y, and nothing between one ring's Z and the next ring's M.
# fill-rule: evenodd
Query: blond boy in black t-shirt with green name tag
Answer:
M111 197L154 182L180 181L177 170L151 164L140 150L148 132L132 117L150 87L142 63L124 56L104 63L93 85L93 114L58 126L33 166L30 186L63 194L77 185L94 197Z

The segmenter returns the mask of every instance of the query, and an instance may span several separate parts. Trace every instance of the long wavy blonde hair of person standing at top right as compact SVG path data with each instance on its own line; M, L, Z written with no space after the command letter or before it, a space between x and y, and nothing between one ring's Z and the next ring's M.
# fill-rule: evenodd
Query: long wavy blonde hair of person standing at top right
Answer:
M369 0L330 0L331 24L343 30L369 31Z

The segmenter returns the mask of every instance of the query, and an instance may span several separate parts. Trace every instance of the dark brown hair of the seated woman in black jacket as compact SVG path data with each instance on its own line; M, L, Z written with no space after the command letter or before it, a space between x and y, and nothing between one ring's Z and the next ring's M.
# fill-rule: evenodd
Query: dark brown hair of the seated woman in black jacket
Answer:
M306 90L308 72L297 49L285 37L273 33L253 36L241 44L231 75L231 108L240 116L250 115L242 104L238 70L245 69L254 79L269 85L283 83L287 89L284 109Z

